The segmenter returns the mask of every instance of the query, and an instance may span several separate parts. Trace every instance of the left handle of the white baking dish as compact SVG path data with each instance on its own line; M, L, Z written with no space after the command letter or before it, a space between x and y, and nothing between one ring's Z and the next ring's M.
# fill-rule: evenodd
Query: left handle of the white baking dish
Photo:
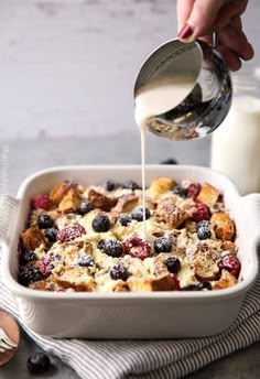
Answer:
M0 196L0 243L9 241L18 206L19 199L6 195Z

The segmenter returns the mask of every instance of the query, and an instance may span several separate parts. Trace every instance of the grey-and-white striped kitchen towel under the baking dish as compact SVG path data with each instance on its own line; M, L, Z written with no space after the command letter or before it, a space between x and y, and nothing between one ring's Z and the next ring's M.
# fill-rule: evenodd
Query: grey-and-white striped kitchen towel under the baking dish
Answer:
M19 321L13 297L1 282L0 307ZM182 378L260 339L260 275L236 322L213 337L117 342L54 339L20 324L39 346L58 356L84 379Z

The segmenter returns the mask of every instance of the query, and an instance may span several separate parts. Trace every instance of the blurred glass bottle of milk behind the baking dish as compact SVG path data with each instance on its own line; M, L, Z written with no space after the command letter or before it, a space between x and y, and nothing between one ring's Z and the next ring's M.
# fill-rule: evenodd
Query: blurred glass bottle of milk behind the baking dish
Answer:
M260 192L260 67L234 74L231 109L213 133L210 166L241 195Z

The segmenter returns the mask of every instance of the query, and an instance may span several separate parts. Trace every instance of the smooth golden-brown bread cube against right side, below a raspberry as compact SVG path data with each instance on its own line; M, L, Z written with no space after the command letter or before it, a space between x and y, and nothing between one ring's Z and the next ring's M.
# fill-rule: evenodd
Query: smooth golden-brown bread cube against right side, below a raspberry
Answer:
M231 241L235 238L235 224L225 212L216 212L210 218L216 237L221 240Z

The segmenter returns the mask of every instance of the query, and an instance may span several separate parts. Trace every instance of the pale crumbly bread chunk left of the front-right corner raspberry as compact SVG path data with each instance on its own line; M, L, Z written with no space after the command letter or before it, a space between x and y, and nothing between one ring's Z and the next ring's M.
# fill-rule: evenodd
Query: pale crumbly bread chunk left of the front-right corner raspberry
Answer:
M213 251L197 251L192 267L198 280L216 280L218 278L218 257Z

